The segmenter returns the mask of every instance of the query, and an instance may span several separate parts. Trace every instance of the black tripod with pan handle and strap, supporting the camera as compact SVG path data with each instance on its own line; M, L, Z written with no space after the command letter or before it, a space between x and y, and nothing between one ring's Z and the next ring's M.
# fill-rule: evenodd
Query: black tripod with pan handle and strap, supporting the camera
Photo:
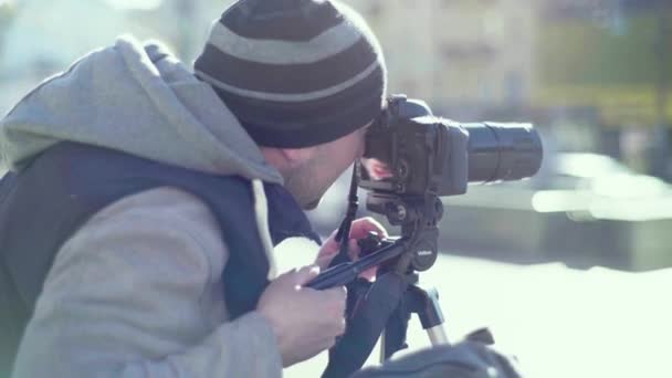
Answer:
M354 218L353 208L356 210L356 198L355 201L350 198L350 218ZM438 256L441 200L433 195L371 192L367 208L385 214L390 224L401 225L401 237L381 240L370 234L359 243L363 251L359 260L349 261L342 250L332 267L308 283L307 286L316 290L348 285L354 292L349 295L353 300L348 301L351 315L348 332L329 354L329 366L323 377L344 377L359 369L379 336L382 337L381 363L406 348L411 314L418 314L432 345L448 344L438 292L417 285L418 272L430 269ZM345 234L349 234L349 224L344 229ZM372 284L357 279L374 266L378 266L378 273Z

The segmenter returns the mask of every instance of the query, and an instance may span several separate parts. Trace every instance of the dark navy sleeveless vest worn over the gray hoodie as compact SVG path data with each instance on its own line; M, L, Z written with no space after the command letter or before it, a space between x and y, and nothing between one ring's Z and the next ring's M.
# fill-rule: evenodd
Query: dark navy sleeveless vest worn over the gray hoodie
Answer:
M269 261L259 237L249 180L62 143L21 174L8 174L0 181L0 377L14 358L61 245L105 206L164 186L197 196L219 222L230 253L222 280L232 318L255 307L269 284ZM264 183L264 189L274 245L298 235L319 242L303 210L282 186Z

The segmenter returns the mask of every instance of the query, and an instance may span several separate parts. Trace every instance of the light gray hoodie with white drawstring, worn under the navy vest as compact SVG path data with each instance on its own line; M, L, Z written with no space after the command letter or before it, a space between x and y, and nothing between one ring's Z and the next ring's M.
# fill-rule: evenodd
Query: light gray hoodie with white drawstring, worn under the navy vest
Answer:
M212 88L158 45L120 38L46 80L0 122L12 170L60 140L251 179L270 255L261 180L282 182L280 174ZM59 251L14 377L281 376L267 321L252 312L229 322L227 258L212 213L191 195L158 188L112 203Z

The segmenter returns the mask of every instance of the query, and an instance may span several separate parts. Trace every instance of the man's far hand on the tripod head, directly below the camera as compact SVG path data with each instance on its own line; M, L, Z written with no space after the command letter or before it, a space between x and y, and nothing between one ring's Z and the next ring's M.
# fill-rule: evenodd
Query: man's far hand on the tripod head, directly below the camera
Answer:
M315 263L323 270L329 266L329 263L332 260L334 260L340 248L340 244L336 242L337 232L338 230L332 232L332 235L324 242L319 249L319 253L317 254L317 260ZM359 218L353 222L350 228L350 238L348 240L348 251L353 261L356 261L359 258L360 251L359 245L357 245L357 241L366 238L369 232L375 232L381 238L388 237L382 224L380 224L374 218ZM372 280L376 276L376 267L371 267L370 270L361 273L361 276L369 281Z

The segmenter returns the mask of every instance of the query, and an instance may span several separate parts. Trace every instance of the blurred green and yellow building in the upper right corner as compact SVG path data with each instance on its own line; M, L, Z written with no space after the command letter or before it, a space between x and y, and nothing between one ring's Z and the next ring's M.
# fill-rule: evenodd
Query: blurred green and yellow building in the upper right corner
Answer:
M672 2L547 1L538 104L594 106L609 127L670 124Z

